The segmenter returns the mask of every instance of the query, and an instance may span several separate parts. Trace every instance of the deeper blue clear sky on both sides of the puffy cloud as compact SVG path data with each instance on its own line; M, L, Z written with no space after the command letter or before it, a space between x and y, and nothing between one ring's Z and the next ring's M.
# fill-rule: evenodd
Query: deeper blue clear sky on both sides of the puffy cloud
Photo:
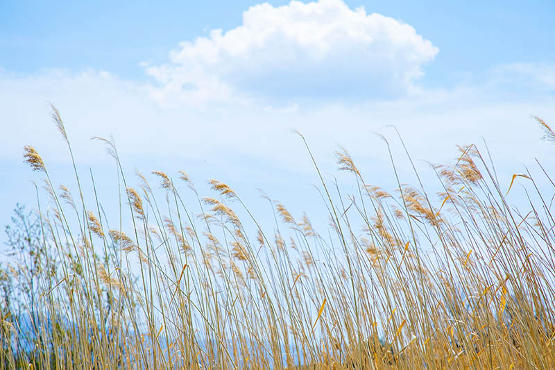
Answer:
M305 1L306 2L306 1ZM271 1L274 6L288 1ZM441 49L423 82L453 84L495 65L553 61L552 1L345 1L402 19ZM163 62L178 42L229 30L257 1L2 1L3 69L81 72L94 68L142 79L139 63Z

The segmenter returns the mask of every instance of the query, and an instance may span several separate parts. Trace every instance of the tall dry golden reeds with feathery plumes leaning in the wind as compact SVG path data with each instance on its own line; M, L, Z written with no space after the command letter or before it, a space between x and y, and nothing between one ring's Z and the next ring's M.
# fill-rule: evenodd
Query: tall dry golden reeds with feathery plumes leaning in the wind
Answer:
M55 108L53 120L73 160ZM38 298L2 312L3 369L555 368L547 172L544 192L531 174L513 176L527 189L515 208L476 146L433 167L438 194L416 170L415 186L402 183L391 153L397 189L370 185L342 150L357 189L342 194L307 145L329 230L277 202L264 230L218 180L207 197L185 172L154 171L157 186L137 174L131 187L101 140L119 169L119 216L103 214L92 174L85 196L74 164L74 197L25 148L49 205L39 203L40 268L11 270Z

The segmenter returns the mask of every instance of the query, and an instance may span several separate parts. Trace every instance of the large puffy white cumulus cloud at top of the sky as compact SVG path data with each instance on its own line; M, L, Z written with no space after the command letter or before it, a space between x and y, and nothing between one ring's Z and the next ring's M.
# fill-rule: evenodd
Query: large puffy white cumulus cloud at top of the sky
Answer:
M182 42L164 65L146 66L159 99L399 96L438 48L409 24L342 0L262 3L241 26Z

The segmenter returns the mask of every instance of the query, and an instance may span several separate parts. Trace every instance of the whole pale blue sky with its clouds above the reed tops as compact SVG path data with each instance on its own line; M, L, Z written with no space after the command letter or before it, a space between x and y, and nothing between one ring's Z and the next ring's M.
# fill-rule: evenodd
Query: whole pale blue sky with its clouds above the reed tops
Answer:
M105 194L113 163L90 137L112 135L130 174L183 169L224 180L260 212L258 188L293 215L321 210L291 131L328 179L341 145L368 183L391 187L375 135L402 157L391 125L422 171L455 158L456 144L486 142L509 184L534 158L553 162L531 119L555 124L553 35L553 1L3 0L0 224L17 202L36 203L24 145L54 183L74 185L49 103Z

